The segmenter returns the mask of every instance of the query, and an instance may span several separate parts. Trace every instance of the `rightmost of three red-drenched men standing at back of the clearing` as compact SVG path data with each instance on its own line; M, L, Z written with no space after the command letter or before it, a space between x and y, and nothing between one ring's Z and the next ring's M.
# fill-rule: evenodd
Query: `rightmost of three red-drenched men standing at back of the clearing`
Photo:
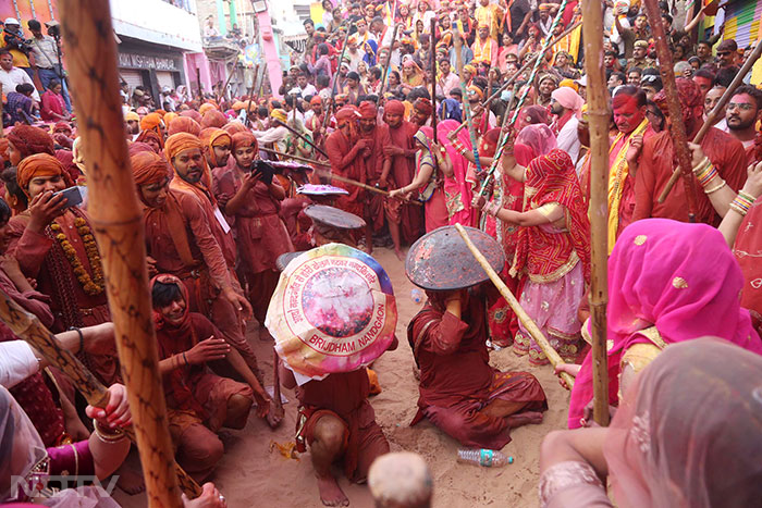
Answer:
M392 179L395 188L413 183L416 173L416 145L413 136L418 125L403 120L405 107L398 100L391 100L384 107L383 120L389 126L392 144L384 147L384 153L392 158ZM403 203L400 212L402 236L408 244L418 239L423 225L422 207Z

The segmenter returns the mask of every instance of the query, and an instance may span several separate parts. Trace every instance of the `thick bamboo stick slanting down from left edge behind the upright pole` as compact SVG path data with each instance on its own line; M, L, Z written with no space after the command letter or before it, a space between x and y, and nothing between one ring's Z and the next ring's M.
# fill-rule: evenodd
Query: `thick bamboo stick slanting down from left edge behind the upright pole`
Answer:
M87 404L106 408L109 402L109 393L106 386L100 384L100 381L72 352L61 347L56 336L40 323L35 314L27 312L1 288L0 320L19 338L26 340L38 350L51 365L63 372L72 381L74 387L85 396ZM124 429L124 433L133 443L136 442L132 426ZM180 466L176 466L176 473L183 491L194 497L201 494L201 487Z

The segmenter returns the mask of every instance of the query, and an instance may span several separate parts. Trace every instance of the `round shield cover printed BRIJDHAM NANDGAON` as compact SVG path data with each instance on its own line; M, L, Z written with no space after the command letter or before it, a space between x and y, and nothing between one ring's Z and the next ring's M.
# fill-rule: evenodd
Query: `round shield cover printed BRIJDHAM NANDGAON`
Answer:
M389 275L372 257L344 244L288 262L265 320L279 357L314 380L368 365L392 344L396 324Z

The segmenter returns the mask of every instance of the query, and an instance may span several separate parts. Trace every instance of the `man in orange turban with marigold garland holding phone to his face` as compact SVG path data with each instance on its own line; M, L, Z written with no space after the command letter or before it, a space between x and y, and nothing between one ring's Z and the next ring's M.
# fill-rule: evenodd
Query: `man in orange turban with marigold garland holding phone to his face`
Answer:
M50 297L53 332L111 321L89 218L78 207L67 207L63 196L53 195L71 186L65 169L53 156L37 153L19 164L16 178L29 208L9 222L9 253L24 276L37 281L37 290ZM121 379L113 343L83 358L103 384Z

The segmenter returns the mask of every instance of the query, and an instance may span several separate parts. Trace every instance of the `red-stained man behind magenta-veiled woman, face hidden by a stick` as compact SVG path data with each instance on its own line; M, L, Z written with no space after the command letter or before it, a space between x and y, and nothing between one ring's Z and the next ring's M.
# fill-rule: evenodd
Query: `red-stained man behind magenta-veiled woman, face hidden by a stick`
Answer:
M698 85L690 79L677 78L677 91L683 108L683 122L686 126L688 139L692 139L702 125L703 104L701 91ZM662 90L654 99L662 110L665 110L665 95ZM709 160L720 173L720 176L735 191L746 182L746 152L743 145L733 136L722 131L710 127L701 140ZM663 131L643 144L643 151L635 178L635 211L632 221L648 218L674 219L688 222L688 201L686 199L685 181L680 177L663 203L657 201L662 190L666 187L674 169L675 149L672 135L668 129ZM696 221L705 224L718 225L720 215L712 208L706 195L695 176L691 176L697 189Z

